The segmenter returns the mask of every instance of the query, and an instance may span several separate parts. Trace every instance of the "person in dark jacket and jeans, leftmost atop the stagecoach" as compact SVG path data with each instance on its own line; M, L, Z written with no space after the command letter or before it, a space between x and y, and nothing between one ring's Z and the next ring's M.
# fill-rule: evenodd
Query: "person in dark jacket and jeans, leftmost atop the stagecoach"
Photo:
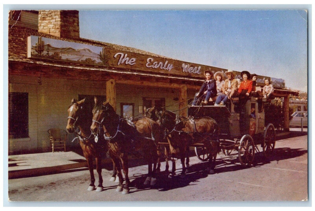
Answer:
M213 73L210 70L204 71L204 76L206 77L205 82L203 82L199 92L195 94L195 98L192 102L193 106L197 105L198 99L205 97L205 100L202 102L207 105L210 97L215 97L217 94L215 79L213 78Z

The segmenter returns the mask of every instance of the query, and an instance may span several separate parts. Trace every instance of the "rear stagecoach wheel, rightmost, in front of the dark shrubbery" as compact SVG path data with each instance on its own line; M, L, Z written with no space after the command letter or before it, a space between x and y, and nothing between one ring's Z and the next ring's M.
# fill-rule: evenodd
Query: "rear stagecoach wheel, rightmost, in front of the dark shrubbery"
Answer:
M261 147L264 155L270 157L276 143L275 128L272 123L269 123L264 132L264 139L262 141Z

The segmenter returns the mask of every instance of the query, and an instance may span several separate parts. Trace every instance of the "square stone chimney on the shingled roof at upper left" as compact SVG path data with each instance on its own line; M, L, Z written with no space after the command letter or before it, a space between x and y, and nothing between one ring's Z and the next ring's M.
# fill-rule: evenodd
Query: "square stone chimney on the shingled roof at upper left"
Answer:
M38 32L62 38L80 38L79 11L39 10Z

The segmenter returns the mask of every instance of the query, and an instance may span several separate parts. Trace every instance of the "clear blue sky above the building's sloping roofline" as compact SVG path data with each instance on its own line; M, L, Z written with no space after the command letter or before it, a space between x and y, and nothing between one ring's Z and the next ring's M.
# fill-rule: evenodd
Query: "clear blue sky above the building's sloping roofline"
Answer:
M79 10L80 37L282 78L307 91L304 10Z

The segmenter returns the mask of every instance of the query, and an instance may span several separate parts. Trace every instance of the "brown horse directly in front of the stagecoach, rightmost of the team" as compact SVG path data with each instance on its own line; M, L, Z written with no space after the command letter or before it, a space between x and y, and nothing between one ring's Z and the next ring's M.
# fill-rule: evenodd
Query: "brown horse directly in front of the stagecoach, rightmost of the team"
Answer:
M176 148L179 148L182 172L185 174L185 150L193 144L203 144L209 151L211 157L207 170L214 173L216 155L220 150L217 138L218 124L210 117L187 118L178 117L174 112L161 112L161 125L165 128L168 136L172 157L175 156ZM175 174L175 169L172 169Z

